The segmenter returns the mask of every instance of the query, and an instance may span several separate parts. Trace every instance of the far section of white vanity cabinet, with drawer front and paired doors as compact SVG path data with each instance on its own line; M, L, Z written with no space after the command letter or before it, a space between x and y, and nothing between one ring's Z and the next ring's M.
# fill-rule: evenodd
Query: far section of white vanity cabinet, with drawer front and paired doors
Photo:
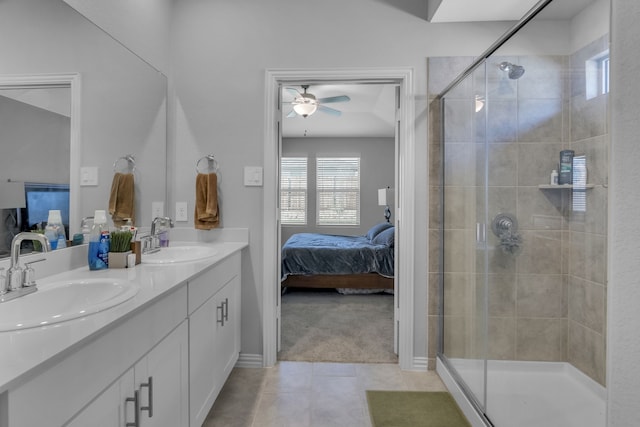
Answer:
M240 254L188 286L190 425L199 427L240 353Z

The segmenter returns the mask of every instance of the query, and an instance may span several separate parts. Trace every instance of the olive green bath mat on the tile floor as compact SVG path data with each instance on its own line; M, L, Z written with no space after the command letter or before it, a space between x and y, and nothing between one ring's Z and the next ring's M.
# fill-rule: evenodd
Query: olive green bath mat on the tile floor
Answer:
M445 392L367 390L373 427L471 427Z

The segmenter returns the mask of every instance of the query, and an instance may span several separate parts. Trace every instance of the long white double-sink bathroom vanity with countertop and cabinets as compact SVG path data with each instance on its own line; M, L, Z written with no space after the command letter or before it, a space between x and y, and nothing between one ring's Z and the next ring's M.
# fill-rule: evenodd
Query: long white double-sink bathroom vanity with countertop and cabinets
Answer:
M247 243L207 246L214 255L197 261L39 280L44 290L100 276L139 291L86 317L0 333L0 427L201 426L238 359Z

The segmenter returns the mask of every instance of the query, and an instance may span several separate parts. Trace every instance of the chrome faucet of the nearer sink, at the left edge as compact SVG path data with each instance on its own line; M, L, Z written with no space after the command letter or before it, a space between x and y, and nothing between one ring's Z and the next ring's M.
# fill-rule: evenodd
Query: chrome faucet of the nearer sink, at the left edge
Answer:
M23 232L14 236L11 241L11 265L7 270L4 283L0 285L0 302L9 301L37 290L33 280L33 269L27 265L27 268L23 271L20 267L20 246L25 240L40 242L42 252L49 252L51 249L49 239L44 234ZM32 261L27 264L43 260Z

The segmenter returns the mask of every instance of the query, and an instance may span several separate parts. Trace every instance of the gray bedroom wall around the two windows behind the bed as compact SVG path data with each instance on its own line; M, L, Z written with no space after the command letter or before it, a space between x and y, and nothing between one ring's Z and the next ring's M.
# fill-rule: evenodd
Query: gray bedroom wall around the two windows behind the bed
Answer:
M378 189L394 188L395 147L393 138L284 138L283 156L306 156L309 168L324 155L360 155L360 226L317 226L315 221L315 174L308 173L306 226L282 226L282 242L294 233L361 235L384 221L384 207L378 206ZM315 170L315 169L310 169ZM393 205L390 206L393 212ZM393 217L391 218L393 221Z

